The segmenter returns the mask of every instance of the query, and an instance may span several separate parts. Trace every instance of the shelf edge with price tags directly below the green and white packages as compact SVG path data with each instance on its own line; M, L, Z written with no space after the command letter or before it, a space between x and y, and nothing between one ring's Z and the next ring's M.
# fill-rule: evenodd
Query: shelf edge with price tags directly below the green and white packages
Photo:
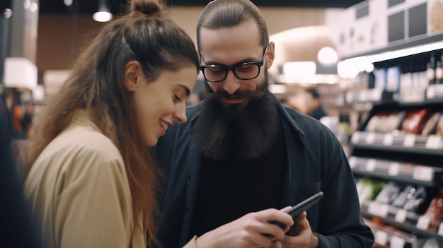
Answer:
M419 215L376 201L362 202L361 210L362 215L366 218L382 218L386 223L396 225L403 230L443 241L443 223L441 220L433 222L426 215Z

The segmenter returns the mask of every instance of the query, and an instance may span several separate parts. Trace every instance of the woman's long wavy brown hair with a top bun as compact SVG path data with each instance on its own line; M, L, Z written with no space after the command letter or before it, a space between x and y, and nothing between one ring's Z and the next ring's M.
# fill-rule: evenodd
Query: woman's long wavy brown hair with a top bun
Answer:
M67 127L73 113L78 109L91 111L93 122L122 155L134 225L142 213L142 228L146 228L151 243L156 242L157 170L153 155L143 145L132 93L124 85L125 65L133 60L142 65L149 82L163 71L190 65L198 71L199 66L192 39L168 18L163 2L132 0L125 16L105 25L76 60L71 76L40 114L35 136L26 141L21 155L26 176L42 150Z

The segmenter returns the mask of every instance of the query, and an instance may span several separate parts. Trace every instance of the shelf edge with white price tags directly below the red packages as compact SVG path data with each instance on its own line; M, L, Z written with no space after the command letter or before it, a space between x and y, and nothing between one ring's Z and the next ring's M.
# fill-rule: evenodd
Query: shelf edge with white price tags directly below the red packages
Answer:
M423 155L443 155L441 136L422 136L416 134L382 134L355 131L351 138L352 146L372 150L391 150L402 153Z

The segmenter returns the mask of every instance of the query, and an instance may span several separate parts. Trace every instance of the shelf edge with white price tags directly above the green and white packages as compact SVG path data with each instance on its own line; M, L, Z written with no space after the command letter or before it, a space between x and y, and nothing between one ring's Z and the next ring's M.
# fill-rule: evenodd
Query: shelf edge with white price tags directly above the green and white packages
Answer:
M358 175L422 184L428 187L443 185L443 168L440 167L355 156L349 158L349 164L352 172Z

